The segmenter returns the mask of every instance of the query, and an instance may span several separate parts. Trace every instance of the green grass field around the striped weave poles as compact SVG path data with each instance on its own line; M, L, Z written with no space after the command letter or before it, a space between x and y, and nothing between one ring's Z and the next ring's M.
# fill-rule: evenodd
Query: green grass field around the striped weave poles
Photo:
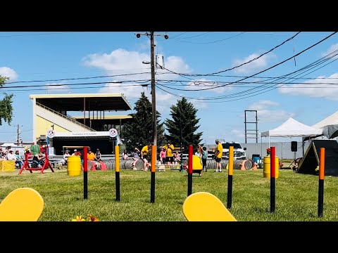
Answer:
M115 171L88 172L88 199L83 175L66 169L0 172L0 201L15 188L31 187L44 198L39 221L71 221L89 214L99 221L186 221L182 205L187 197L187 172L156 172L155 202L151 203L151 173L120 171L120 202L116 201ZM270 179L257 171L234 170L232 208L237 221L338 221L338 177L325 176L323 217L318 217L318 176L281 169L276 179L275 212L270 213ZM227 171L208 169L193 174L192 193L206 191L227 206ZM23 212L25 212L23 210Z

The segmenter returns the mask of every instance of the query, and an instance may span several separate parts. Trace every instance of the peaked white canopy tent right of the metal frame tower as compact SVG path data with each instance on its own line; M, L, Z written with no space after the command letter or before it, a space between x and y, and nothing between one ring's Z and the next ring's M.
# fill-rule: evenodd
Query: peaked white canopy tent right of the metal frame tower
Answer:
M313 126L307 126L301 122L296 121L290 117L286 122L277 126L275 129L269 131L263 131L261 137L269 137L269 146L270 146L270 136L278 137L311 137L311 136L320 136L323 134L322 129L315 128Z

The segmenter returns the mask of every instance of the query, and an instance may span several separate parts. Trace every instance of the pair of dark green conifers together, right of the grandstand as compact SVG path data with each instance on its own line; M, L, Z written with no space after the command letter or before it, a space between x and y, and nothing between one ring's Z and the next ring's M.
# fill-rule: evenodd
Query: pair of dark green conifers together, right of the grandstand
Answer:
M171 141L175 147L187 150L189 145L197 146L201 143L203 132L199 129L199 120L196 117L196 108L186 98L177 100L170 106L170 118L161 122L161 113L156 110L157 146L163 146ZM123 143L127 150L135 147L142 148L146 143L153 141L153 115L152 105L144 92L134 106L132 119L125 124L123 131ZM166 131L165 131L166 130Z

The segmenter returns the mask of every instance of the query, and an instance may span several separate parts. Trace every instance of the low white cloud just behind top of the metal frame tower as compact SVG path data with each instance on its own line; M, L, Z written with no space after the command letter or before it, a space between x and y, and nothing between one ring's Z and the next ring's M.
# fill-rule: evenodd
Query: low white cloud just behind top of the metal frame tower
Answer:
M277 122L280 120L289 119L289 117L294 117L293 112L275 109L278 106L279 103L276 103L274 101L261 100L254 103L253 105L249 105L247 110L257 110L258 121L261 122ZM251 119L247 120L252 121Z

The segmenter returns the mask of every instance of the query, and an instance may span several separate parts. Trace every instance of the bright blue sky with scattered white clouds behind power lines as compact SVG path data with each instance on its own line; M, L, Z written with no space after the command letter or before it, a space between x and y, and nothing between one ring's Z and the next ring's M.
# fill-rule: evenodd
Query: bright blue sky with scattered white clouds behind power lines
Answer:
M15 142L18 124L23 141L32 141L30 94L124 93L134 108L144 91L151 101L150 65L142 64L150 60L150 39L137 33L146 32L0 32L0 74L10 77L3 91L15 95L13 121L0 126L0 141ZM169 37L155 36L155 54L163 56L165 67L156 70L161 119L184 96L198 109L202 142L214 144L216 138L244 143L245 110L257 110L259 134L289 117L312 126L330 116L337 111L338 34L325 39L333 32L297 33L156 32ZM74 85L86 82L101 84ZM254 116L248 112L246 121Z

